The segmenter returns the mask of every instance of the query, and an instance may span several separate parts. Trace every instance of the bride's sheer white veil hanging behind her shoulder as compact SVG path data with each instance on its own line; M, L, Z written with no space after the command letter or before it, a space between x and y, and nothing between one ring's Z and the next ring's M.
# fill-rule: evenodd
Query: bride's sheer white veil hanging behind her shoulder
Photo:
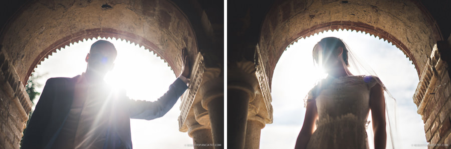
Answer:
M342 40L342 39L340 39ZM369 66L364 60L359 59L359 57L349 48L349 46L344 42L346 49L348 50L348 69L351 71L353 75L375 75L376 72ZM315 62L314 62L315 63ZM319 67L319 65L316 65ZM322 76L320 76L322 77ZM318 78L318 80L321 78ZM384 89L384 99L385 99L385 122L386 122L386 132L387 132L387 144L386 148L399 148L397 142L399 142L397 137L397 128L396 128L396 99L390 94L388 89L383 85L382 82L379 82ZM368 141L369 147L374 148L374 134L372 130L372 120L371 113L368 115L367 123L367 133L368 133Z

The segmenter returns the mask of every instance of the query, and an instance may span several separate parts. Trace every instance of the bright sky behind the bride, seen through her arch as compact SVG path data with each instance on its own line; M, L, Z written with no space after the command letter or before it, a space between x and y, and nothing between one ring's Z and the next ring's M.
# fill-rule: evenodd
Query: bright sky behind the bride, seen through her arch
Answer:
M391 43L356 31L327 31L315 34L287 48L274 70L272 105L274 121L261 132L260 148L294 148L304 121L304 96L313 87L312 49L321 38L343 39L360 59L365 60L397 100L399 144L402 148L427 148L424 124L416 113L413 93L418 84L417 72L404 53Z

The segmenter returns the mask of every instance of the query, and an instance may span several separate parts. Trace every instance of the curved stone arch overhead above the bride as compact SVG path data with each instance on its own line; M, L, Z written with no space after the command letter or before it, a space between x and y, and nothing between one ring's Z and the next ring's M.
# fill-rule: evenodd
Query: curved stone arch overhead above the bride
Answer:
M392 42L412 60L418 76L435 42L442 39L433 18L414 1L276 1L265 16L259 39L260 53L268 53L261 59L269 84L288 45L329 29L365 31Z

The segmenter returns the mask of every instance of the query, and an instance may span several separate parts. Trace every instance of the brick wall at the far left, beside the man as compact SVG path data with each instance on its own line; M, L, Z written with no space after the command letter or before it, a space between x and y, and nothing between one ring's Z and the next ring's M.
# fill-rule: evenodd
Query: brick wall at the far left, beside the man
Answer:
M31 107L14 66L0 51L0 148L19 148Z

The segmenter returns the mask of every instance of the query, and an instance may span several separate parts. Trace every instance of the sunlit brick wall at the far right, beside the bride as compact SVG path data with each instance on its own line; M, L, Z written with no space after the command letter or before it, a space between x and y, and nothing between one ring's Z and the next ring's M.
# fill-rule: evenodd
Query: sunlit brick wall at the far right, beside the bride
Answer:
M424 122L428 148L451 148L451 84L449 79L449 45L438 41L423 68L413 102ZM442 56L441 56L442 55ZM433 144L448 144L434 146Z

